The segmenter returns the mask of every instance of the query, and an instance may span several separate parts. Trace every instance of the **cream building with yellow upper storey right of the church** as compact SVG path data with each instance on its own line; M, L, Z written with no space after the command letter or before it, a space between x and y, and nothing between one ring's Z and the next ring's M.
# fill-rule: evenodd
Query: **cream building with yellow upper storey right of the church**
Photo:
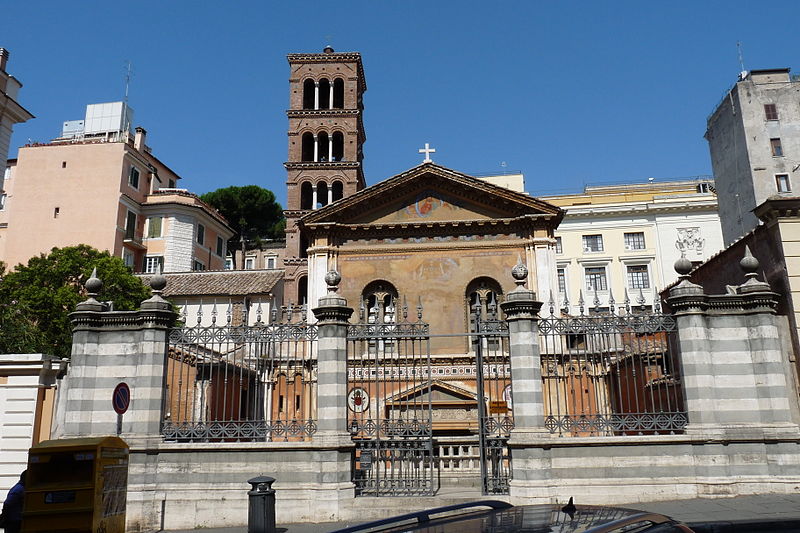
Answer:
M722 249L717 199L709 180L586 187L545 196L566 210L555 231L557 307L580 313L652 307L659 289L677 279L685 255L699 264ZM550 294L540 294L548 301Z

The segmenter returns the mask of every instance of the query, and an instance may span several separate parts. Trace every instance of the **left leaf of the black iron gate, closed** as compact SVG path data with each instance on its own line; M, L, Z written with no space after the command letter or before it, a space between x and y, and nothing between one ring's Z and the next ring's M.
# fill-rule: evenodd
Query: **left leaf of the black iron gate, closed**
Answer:
M375 312L373 312L375 311ZM394 302L348 328L348 430L356 496L436 493L428 324L394 320ZM366 315L366 316L365 316Z

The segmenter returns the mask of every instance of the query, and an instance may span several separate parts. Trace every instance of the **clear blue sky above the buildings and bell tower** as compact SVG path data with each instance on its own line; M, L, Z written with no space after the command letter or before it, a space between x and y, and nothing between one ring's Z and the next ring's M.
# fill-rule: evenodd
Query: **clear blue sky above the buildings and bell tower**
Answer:
M0 46L58 135L88 103L130 104L154 153L203 193L285 200L286 54L359 51L368 184L418 164L525 173L531 194L710 174L706 116L739 71L797 67L800 2L3 2Z

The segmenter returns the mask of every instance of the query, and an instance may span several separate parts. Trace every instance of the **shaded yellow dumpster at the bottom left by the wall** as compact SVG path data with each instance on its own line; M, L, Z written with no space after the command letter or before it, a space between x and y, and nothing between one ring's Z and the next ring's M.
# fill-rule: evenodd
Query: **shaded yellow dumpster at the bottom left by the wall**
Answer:
M23 533L124 533L128 445L119 437L58 439L28 452Z

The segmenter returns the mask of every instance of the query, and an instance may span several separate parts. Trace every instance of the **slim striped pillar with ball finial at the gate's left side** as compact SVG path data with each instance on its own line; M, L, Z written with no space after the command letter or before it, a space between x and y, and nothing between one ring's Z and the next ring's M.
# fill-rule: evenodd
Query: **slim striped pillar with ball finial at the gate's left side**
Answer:
M328 294L313 309L317 318L317 419L314 440L325 435L347 436L347 324L353 309L336 294L342 277L330 271L325 275Z

